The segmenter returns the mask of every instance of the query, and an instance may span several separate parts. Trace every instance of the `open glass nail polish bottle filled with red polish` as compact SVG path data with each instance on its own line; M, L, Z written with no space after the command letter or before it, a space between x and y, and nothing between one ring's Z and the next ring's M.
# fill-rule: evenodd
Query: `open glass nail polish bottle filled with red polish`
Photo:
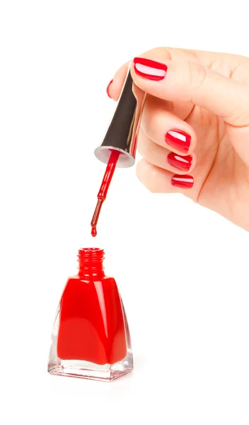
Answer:
M79 249L79 273L65 285L52 330L48 372L111 381L133 370L132 346L114 278L105 276L104 251Z

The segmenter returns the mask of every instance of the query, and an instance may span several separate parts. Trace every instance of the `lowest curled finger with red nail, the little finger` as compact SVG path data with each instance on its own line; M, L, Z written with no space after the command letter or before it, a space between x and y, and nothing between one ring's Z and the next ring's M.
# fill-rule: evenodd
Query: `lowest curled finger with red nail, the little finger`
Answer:
M194 178L188 174L173 174L141 159L137 164L137 177L153 193L184 193L197 199Z

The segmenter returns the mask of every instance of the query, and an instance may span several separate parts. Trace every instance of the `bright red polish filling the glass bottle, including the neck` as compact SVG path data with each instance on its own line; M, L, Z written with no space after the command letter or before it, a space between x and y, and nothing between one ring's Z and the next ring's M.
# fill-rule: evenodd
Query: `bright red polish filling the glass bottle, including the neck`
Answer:
M80 250L79 276L69 278L60 303L57 355L62 360L114 364L127 356L125 321L114 278L104 275L99 249ZM88 256L88 258L87 258Z

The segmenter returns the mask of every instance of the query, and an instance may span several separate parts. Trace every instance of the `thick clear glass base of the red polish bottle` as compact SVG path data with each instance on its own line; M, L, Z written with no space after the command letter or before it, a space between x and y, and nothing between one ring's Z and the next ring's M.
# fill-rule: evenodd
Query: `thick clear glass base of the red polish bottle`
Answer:
M70 376L72 378L85 378L111 382L117 378L131 373L133 370L132 351L127 351L127 356L122 361L113 365L97 365L89 361L54 359L48 364L47 371L51 375Z

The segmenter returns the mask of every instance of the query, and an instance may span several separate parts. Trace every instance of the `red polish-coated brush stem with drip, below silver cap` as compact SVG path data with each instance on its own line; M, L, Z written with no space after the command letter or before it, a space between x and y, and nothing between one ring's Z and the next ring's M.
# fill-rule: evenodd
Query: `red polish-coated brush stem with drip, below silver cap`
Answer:
M100 215L100 210L102 208L103 202L108 194L108 188L110 186L110 182L112 181L112 176L115 171L117 160L120 157L120 152L117 150L112 150L112 153L110 154L110 159L108 161L108 165L105 169L105 175L103 178L103 181L100 186L100 190L98 191L98 203L96 205L95 211L93 213L93 218L91 221L91 235L95 237L97 235L97 223L98 223L98 217Z

